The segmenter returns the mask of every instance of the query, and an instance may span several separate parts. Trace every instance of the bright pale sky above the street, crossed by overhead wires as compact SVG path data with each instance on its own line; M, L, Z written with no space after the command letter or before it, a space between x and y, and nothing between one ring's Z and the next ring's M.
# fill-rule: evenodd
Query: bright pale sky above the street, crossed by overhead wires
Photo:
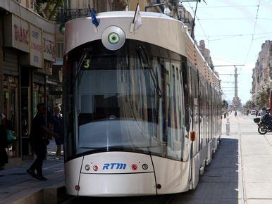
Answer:
M242 104L251 100L252 69L261 44L272 40L272 0L201 0L197 6L194 36L204 39L211 51L215 70L219 73L223 98L234 97L233 66L237 66L238 97ZM195 2L183 2L194 16ZM220 65L216 67L217 65ZM229 75L228 75L229 74Z

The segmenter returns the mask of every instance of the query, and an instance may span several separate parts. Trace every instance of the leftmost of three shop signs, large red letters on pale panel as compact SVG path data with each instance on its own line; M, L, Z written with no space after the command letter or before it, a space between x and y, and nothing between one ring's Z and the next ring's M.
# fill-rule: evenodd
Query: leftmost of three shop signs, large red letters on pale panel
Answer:
M12 46L21 51L29 52L29 23L16 15L12 15Z

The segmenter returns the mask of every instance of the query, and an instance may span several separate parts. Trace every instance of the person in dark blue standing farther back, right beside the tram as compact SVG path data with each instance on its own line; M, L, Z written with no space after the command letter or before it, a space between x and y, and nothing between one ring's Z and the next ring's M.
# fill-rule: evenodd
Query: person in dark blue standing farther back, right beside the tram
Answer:
M63 144L63 120L61 115L61 108L59 106L54 107L54 115L50 119L50 129L58 134L59 137L55 137L56 143L56 159L61 159L61 145Z

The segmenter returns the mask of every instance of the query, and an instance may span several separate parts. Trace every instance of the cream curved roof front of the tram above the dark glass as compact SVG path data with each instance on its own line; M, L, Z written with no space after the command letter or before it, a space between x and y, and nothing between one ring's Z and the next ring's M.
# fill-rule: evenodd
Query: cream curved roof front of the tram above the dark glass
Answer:
M156 45L161 45L175 51L177 53L185 54L185 42L180 42L180 45L177 46L177 42L168 42L166 44L166 39L168 39L169 33L175 34L175 39L184 37L186 32L184 24L180 20L175 20L174 18L169 17L163 13L154 13L154 12L141 12L142 25L145 27L137 30L137 32L130 32L130 25L132 19L135 15L135 11L110 11L97 13L97 19L100 20L97 31L93 29L92 26L92 17L85 18L75 18L69 20L66 23L66 46L65 53L68 53L71 49L96 39L101 39L101 33L111 25L116 25L123 29L127 39L138 39L144 42L149 42ZM116 20L118 19L118 20ZM169 24L161 23L161 20L168 22ZM165 28L167 27L167 29ZM152 30L152 33L148 31L151 27L156 27ZM182 28L182 29L180 29ZM158 30L163 30L163 36L157 35ZM153 36L152 36L153 34ZM156 36L156 38L154 38ZM157 39L158 38L158 39ZM164 43L164 44L163 44Z

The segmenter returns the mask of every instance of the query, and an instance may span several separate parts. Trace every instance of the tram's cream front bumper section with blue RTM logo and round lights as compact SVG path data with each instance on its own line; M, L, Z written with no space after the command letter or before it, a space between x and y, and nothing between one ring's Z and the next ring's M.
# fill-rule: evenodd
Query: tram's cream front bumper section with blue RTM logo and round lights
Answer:
M104 152L66 162L66 191L73 196L156 195L150 155Z

